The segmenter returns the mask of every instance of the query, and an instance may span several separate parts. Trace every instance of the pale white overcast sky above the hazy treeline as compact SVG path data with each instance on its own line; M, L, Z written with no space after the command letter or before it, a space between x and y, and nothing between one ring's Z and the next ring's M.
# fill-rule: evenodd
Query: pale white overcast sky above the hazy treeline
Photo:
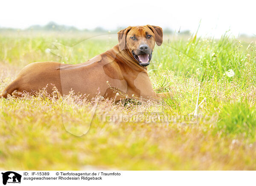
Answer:
M256 35L256 0L1 0L0 27L26 28L49 21L93 29L151 24L219 37Z

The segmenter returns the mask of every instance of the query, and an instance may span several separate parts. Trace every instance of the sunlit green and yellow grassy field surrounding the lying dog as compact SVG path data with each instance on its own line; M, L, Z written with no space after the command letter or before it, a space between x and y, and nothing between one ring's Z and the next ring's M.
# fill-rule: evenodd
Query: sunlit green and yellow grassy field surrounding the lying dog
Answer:
M94 35L95 36L95 35ZM77 64L117 44L117 35L0 32L0 92L27 64ZM256 170L256 39L166 35L148 74L160 103L24 95L0 99L0 169ZM102 122L105 114L193 113L197 123ZM57 93L56 93L57 94ZM89 131L81 137L82 130Z

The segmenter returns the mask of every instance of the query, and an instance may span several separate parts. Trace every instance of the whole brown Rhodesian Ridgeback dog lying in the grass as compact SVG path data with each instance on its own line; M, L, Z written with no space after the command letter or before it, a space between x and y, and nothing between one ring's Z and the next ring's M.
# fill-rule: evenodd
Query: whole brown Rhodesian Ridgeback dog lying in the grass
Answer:
M160 99L169 93L155 93L147 73L155 42L163 43L163 30L158 26L129 26L118 32L112 49L81 64L35 62L24 67L2 96L17 92L35 93L56 87L61 95L70 90L76 94L116 98ZM119 93L117 93L117 91Z

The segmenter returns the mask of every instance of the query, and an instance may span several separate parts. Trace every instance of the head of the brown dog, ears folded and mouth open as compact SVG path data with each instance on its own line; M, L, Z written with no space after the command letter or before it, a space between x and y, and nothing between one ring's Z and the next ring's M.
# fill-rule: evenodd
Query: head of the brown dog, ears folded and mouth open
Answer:
M155 42L163 43L163 30L159 26L129 26L118 33L119 49L127 51L141 66L148 66Z

